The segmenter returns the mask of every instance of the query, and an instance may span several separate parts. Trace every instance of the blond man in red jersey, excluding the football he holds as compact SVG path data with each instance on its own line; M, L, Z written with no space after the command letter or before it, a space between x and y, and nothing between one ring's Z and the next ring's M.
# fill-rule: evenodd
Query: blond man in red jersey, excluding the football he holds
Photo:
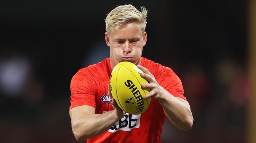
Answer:
M107 16L105 40L110 58L80 69L71 80L70 117L73 134L87 143L160 143L167 117L181 130L190 130L193 117L178 76L168 67L142 58L147 42L147 10L121 5ZM109 78L119 62L129 61L144 71L151 103L143 114L125 114L111 97Z

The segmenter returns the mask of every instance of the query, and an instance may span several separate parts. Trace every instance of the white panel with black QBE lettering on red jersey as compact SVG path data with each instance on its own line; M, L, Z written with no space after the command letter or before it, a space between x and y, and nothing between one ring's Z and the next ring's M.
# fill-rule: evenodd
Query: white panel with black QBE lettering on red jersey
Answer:
M132 129L140 127L140 115L133 115L126 113L123 118L115 123L108 132L117 132L118 130L131 131Z

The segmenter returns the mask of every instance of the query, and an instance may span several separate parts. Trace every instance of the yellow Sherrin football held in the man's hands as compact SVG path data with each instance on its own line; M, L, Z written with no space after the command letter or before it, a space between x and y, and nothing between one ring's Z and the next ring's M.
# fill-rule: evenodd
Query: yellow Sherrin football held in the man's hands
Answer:
M142 89L148 81L140 76L142 73L134 63L118 63L110 76L110 91L118 106L129 114L142 114L148 109L150 99L143 99L149 89Z

